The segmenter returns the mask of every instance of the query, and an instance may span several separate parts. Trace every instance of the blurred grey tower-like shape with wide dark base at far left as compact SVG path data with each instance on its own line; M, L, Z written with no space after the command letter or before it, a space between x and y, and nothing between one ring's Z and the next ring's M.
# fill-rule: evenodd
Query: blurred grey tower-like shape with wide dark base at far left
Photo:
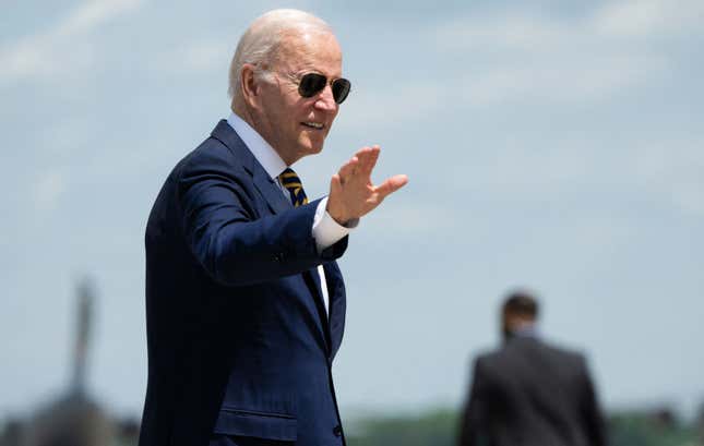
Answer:
M25 421L5 422L0 446L112 446L136 443L135 421L116 422L86 389L95 288L77 286L72 374L67 391L40 407Z

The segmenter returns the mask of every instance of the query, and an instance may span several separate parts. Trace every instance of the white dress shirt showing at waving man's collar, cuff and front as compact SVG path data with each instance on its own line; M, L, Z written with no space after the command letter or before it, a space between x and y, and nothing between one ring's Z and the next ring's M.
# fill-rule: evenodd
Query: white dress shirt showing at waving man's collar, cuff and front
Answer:
M288 166L282 159L274 147L272 147L251 125L249 125L242 118L235 113L230 113L227 118L227 123L235 129L239 137L244 142L244 145L254 155L254 158L264 168L266 173L276 181L282 193L287 200L290 200L288 190L281 183L278 176L286 170ZM325 207L327 206L327 197L324 197L315 208L315 216L313 217L312 236L315 239L315 246L318 252L332 246L339 239L347 236L354 229L359 220L353 221L349 227L339 225L333 217L327 214ZM323 302L325 304L325 313L330 313L330 296L327 294L327 281L325 280L325 270L323 265L318 265L318 275L320 276L320 288L323 293Z

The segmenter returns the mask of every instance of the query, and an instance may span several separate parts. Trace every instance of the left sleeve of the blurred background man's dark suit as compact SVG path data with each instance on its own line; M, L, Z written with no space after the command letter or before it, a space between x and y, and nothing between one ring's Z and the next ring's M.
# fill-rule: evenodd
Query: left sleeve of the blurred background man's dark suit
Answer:
M486 436L487 388L481 358L474 364L469 397L465 405L460 430L460 446L479 446Z

